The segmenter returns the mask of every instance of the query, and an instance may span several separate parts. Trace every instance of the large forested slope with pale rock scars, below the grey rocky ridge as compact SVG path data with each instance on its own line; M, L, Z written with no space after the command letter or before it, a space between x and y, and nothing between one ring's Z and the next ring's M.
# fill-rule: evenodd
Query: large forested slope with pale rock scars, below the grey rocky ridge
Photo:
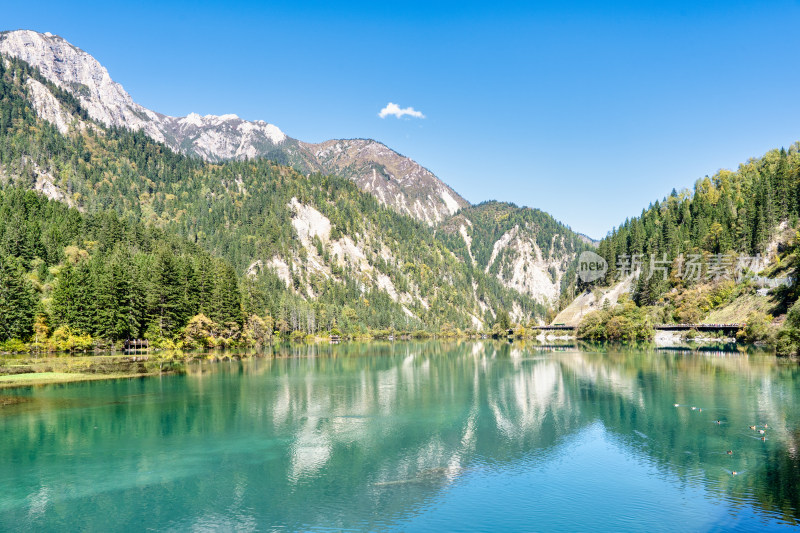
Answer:
M37 114L43 98L48 120ZM523 322L546 310L459 257L443 232L350 180L266 159L212 164L177 154L142 132L94 122L17 59L2 61L0 109L6 187L40 190L89 215L110 209L197 243L244 276L243 301L261 295L247 312L290 329L481 327L501 309Z

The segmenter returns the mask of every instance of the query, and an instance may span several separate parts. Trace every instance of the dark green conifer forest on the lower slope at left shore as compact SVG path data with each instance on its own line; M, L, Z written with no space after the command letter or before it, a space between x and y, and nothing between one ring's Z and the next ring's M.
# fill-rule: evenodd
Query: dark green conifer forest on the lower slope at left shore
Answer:
M243 299L230 263L113 211L83 214L20 188L0 190L0 342L92 335L171 336L203 313L239 336ZM263 295L262 299L263 299Z

